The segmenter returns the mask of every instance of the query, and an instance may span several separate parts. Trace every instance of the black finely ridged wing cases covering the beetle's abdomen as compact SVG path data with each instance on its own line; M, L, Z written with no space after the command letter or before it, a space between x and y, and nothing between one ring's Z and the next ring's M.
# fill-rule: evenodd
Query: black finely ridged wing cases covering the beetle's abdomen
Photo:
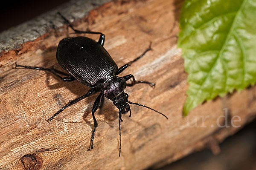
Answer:
M58 63L78 81L95 87L115 74L117 65L108 52L88 37L70 37L60 41Z

